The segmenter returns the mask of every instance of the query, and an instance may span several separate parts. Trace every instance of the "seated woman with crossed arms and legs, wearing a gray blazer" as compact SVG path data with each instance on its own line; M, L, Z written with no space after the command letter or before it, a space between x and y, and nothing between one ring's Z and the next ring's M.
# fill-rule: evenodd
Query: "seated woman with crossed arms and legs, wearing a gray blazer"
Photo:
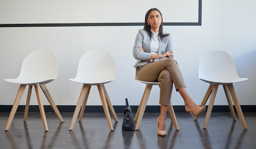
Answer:
M157 118L158 135L166 135L165 120L168 106L171 104L173 84L184 99L186 112L194 117L205 111L206 107L198 106L186 91L178 64L173 59L171 35L163 33L162 13L158 9L153 8L146 13L144 29L139 30L135 39L133 56L137 59L134 67L139 69L137 72L139 80L161 82L159 99L161 110Z

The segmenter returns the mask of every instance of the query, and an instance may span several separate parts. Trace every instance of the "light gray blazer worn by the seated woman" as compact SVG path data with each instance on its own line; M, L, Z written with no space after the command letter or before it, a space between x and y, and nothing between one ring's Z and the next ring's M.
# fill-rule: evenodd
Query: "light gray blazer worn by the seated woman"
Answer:
M145 60L150 59L150 43L151 43L151 40L148 33L144 29L140 29L139 33L137 33L134 46L133 46L133 51L132 51L133 57L137 59L137 62L134 64L133 67L137 68L138 66L144 66L148 62ZM141 46L144 52L141 52L138 46ZM163 40L160 40L160 43L159 43L158 54L161 55L166 51L173 51L173 44L171 41L170 34L167 37L164 37ZM161 59L166 59L166 58L168 57L157 58L154 60L159 61Z

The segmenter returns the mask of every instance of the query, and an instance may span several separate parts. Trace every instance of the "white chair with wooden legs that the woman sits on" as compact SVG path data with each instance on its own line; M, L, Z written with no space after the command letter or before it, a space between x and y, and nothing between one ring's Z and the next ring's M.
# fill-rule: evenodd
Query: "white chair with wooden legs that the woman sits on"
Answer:
M141 121L142 121L142 118L143 118L143 115L144 115L144 112L145 112L145 109L146 109L146 105L148 103L148 98L149 98L149 95L150 95L150 92L151 92L151 89L152 89L152 86L153 85L158 85L160 86L160 82L147 82L147 81L140 81L138 78L137 78L137 72L138 72L138 68L136 68L136 74L135 74L135 80L136 81L139 81L141 83L145 83L146 84L146 88L145 88L145 91L143 93L143 96L141 98L141 101L139 103L139 107L138 107L138 110L136 112L136 115L135 115L135 118L134 120L136 121L136 124L135 124L135 130L138 130L139 129L139 126L141 124ZM169 105L168 107L168 113L169 113L169 116L171 118L171 121L173 121L173 125L175 127L176 130L179 130L179 126L178 126L178 123L177 123L177 119L176 119L176 116L175 116L175 112L173 110L173 105Z

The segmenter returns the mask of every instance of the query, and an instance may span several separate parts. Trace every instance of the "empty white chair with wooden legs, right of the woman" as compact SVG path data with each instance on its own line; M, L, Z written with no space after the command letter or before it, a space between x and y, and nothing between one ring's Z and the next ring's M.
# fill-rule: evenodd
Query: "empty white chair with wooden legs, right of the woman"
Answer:
M248 78L238 77L236 72L236 65L233 58L228 53L222 50L207 51L203 53L199 60L198 75L199 79L204 82L210 83L209 88L200 105L201 107L205 105L207 100L209 99L209 96L211 96L203 128L207 128L218 86L223 85L233 120L236 121L236 115L234 112L231 97L233 99L236 111L243 125L243 128L247 129L245 118L238 102L233 83L245 81ZM198 116L196 118L198 118Z

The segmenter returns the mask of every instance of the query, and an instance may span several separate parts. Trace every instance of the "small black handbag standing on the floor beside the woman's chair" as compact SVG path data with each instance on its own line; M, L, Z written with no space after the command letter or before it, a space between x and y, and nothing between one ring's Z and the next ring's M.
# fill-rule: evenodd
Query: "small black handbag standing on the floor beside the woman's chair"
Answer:
M122 130L134 130L135 122L134 122L134 118L132 117L132 108L129 106L127 98L125 99L125 101L126 101L126 108L124 110Z

